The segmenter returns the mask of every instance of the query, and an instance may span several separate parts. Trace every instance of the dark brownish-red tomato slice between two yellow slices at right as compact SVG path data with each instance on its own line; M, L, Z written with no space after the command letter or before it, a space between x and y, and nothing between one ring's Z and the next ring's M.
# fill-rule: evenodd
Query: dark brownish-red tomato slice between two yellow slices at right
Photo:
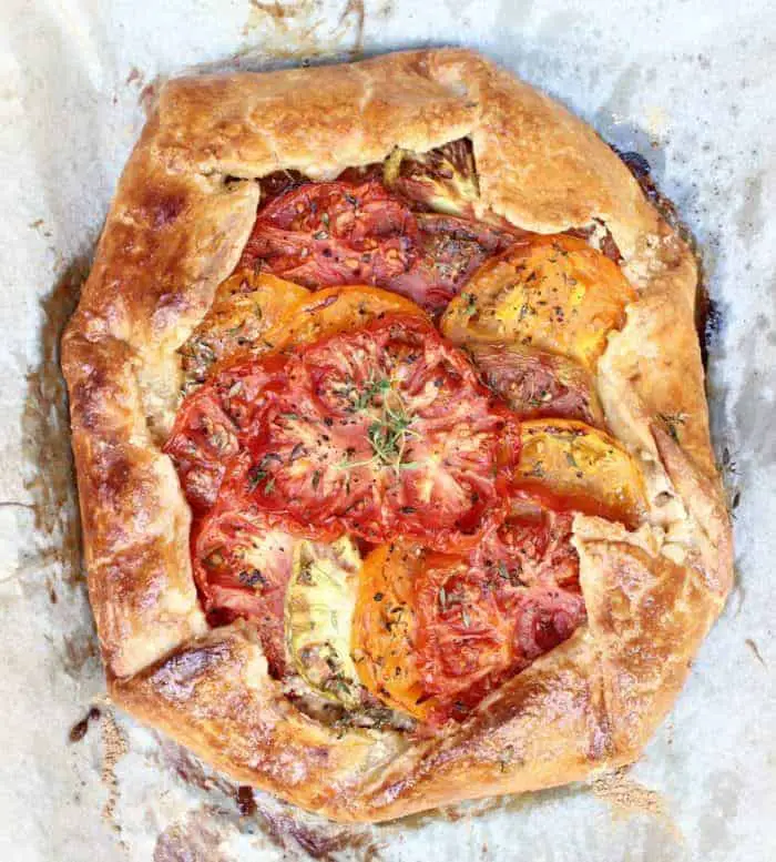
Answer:
M521 418L580 419L604 424L593 377L572 359L522 344L467 345L484 382Z

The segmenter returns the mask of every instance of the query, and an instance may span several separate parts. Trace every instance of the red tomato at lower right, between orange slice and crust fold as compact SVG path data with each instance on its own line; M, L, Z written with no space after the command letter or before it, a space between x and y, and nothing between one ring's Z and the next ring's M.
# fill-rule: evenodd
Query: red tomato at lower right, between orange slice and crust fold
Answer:
M417 590L418 667L440 714L462 717L584 619L570 515L510 518L470 558L430 555Z

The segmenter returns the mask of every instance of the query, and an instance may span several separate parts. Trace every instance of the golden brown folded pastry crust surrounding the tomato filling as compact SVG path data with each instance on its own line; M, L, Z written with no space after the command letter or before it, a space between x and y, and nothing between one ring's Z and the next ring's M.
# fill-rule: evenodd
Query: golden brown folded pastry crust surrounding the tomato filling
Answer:
M335 731L284 697L249 625L207 630L190 513L159 448L178 399L176 349L237 262L254 178L297 169L327 179L396 145L423 151L464 135L482 210L542 233L602 223L617 243L639 301L610 338L598 387L609 426L644 468L649 520L627 533L576 516L588 625L459 728L423 741ZM116 702L236 780L340 820L535 790L634 760L732 578L695 288L686 244L609 146L472 52L169 83L63 341L90 596Z

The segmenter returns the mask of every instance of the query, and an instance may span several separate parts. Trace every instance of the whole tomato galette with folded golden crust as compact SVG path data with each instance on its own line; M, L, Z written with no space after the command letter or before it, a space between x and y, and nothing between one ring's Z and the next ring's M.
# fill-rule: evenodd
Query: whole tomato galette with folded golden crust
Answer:
M695 293L468 51L169 83L62 346L115 702L339 820L634 760L732 577Z

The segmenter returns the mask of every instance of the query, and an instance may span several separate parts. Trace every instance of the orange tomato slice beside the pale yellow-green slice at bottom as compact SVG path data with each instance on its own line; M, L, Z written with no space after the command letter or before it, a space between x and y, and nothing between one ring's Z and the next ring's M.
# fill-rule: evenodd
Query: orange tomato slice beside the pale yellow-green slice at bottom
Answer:
M421 720L433 706L422 698L415 660L412 581L422 562L411 546L375 548L364 560L351 629L361 684L388 706Z

